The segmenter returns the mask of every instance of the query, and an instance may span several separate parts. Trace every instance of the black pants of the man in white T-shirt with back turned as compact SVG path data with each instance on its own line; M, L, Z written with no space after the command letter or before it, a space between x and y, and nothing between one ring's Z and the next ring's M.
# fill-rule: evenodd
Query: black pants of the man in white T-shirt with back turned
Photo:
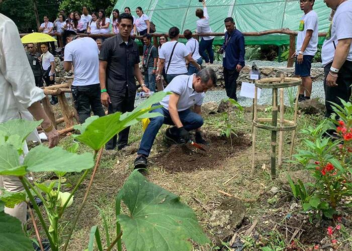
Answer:
M91 111L100 117L105 115L100 101L100 84L71 86L71 91L80 123L91 116Z

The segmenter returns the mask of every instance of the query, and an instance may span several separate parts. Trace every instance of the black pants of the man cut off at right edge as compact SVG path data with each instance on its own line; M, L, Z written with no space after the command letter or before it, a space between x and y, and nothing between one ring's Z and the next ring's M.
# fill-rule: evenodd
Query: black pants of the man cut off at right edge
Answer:
M329 74L331 65L332 63L324 67L324 75L325 75L324 90L325 90L325 107L326 107L325 117L330 117L330 115L333 113L330 102L334 102L343 107L339 98L348 102L351 96L352 62L346 60L342 65L341 69L338 72L336 87L329 87L326 85L326 77Z

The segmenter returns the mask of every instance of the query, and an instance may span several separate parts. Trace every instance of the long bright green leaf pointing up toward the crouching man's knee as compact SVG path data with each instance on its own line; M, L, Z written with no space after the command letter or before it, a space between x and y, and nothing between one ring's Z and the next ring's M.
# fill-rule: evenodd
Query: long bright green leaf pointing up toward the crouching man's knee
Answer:
M160 101L167 94L168 93L163 91L157 92L131 112L126 112L124 114L122 114L121 112L116 112L114 114L109 114L100 117L92 121L88 126L86 126L84 132L81 135L77 136L75 139L91 147L93 150L98 151L111 138L113 138L114 135L118 134L126 127L132 126L132 124L137 123L138 120L141 120L143 118L155 116L154 113L148 112L157 108L158 106L150 106Z

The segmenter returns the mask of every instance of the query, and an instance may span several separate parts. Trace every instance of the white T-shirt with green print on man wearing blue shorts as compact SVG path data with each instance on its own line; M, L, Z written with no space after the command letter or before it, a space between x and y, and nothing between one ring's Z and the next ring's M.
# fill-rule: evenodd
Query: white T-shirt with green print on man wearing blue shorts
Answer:
M302 48L303 41L306 38L308 30L313 31L313 35L310 38L309 44L303 52L303 55L314 56L318 50L318 15L315 11L310 11L306 15L303 15L303 17L301 18L297 35L297 54Z

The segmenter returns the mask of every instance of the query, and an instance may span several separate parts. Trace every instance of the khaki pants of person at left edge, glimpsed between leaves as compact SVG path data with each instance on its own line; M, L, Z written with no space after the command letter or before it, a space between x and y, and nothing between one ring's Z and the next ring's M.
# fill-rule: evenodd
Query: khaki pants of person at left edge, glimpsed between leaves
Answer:
M23 147L24 154L28 153L27 143ZM20 162L23 162L23 157L20 157ZM18 193L24 191L24 187L20 179L16 176L1 176L0 175L0 187L4 188L6 191ZM0 190L1 194L1 190ZM18 218L22 224L25 224L27 221L27 204L22 202L17 204L14 208L5 207L5 212Z

